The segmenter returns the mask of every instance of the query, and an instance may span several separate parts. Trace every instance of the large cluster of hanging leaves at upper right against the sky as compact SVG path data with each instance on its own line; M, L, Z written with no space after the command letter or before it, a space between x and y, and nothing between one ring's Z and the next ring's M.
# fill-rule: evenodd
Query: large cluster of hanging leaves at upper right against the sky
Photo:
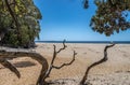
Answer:
M98 6L95 15L91 18L91 28L105 36L130 28L130 0L94 0Z

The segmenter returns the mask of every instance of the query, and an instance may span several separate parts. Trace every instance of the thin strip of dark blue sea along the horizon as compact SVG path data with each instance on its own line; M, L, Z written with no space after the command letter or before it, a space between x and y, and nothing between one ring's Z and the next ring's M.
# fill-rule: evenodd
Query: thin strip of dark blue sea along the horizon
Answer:
M63 41L35 41L36 43L62 43ZM116 43L116 44L130 44L130 41L66 41L66 43L90 43L90 44L106 44L106 43Z

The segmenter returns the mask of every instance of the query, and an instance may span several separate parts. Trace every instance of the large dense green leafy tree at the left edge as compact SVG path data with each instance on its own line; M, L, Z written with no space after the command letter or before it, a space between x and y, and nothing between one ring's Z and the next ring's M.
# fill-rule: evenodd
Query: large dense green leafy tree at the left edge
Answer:
M38 20L41 17L40 11L32 0L0 1L1 42L11 46L29 47L35 39L39 38L40 26Z

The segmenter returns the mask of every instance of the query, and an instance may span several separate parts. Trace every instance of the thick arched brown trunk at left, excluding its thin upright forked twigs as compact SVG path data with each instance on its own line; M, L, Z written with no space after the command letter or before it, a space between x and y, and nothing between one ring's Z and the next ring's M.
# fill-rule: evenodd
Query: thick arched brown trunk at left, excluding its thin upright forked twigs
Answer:
M10 56L9 56L10 55ZM11 71L13 71L17 76L21 76L20 72L14 68L10 62L8 62L6 58L18 58L18 57L30 57L35 60L37 60L41 66L41 72L38 77L36 85L43 85L46 83L44 75L48 71L49 65L44 57L42 57L38 53L31 53L31 52L6 52L6 51L0 51L0 62L5 67L9 68Z

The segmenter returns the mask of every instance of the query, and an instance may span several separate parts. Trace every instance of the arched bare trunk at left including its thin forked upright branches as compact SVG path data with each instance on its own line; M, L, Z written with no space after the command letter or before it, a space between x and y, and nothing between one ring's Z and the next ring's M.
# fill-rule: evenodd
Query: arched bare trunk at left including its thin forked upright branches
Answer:
M48 65L47 59L42 55L35 52L26 52L26 51L11 52L6 49L0 49L0 63L5 68L10 69L12 72L14 72L16 76L20 79L21 77L20 71L15 68L15 66L13 66L10 61L8 61L8 59L14 59L20 57L30 57L37 60L42 66L42 69L40 71L40 75L38 77L36 85L48 85L48 83L46 82L46 79L49 77L52 69L61 69L65 66L72 65L75 61L75 56L77 55L77 53L74 51L73 59L68 63L63 63L60 67L56 67L54 66L54 60L56 58L56 55L61 51L64 51L67 46L65 45L65 41L63 42L63 47L60 48L58 51L56 51L55 45L53 46L54 46L54 52L53 52L53 57L52 57L50 67Z

